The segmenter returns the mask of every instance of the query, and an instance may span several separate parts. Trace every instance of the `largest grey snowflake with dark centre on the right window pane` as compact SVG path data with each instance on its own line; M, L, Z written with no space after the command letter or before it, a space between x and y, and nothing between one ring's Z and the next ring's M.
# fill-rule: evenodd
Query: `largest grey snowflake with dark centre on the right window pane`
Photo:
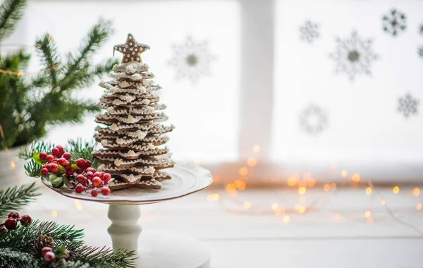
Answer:
M370 66L379 58L372 49L372 39L362 39L353 30L350 38L336 38L336 50L329 57L336 62L336 73L346 73L350 80L355 75L371 75Z

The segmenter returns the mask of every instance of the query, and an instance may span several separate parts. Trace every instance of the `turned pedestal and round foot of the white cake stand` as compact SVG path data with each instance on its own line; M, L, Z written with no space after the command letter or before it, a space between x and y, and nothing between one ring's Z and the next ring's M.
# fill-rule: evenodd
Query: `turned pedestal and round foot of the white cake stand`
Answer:
M198 240L171 231L143 231L137 205L109 205L114 250L137 250L139 268L210 268L210 253Z

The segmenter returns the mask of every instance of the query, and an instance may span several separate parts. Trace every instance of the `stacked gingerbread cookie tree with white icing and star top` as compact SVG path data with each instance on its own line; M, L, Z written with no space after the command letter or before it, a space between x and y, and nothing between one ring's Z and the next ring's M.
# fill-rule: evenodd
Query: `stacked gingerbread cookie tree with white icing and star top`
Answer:
M100 107L104 114L96 116L97 126L94 138L104 149L92 154L102 163L99 171L110 173L114 181L109 183L111 190L138 187L160 189L161 182L169 179L163 169L173 166L164 144L166 133L173 126L163 126L167 116L159 104L159 96L154 92L161 87L154 83L154 75L149 66L142 63L142 52L149 49L138 43L128 34L125 44L118 44L114 51L123 54L120 65L109 74L108 82L101 82L104 95Z

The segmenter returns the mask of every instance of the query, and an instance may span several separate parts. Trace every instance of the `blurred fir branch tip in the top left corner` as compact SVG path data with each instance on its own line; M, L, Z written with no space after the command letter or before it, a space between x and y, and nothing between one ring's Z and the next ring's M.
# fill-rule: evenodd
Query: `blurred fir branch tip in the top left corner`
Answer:
M0 7L0 41L11 35L23 16L26 0L5 0Z

